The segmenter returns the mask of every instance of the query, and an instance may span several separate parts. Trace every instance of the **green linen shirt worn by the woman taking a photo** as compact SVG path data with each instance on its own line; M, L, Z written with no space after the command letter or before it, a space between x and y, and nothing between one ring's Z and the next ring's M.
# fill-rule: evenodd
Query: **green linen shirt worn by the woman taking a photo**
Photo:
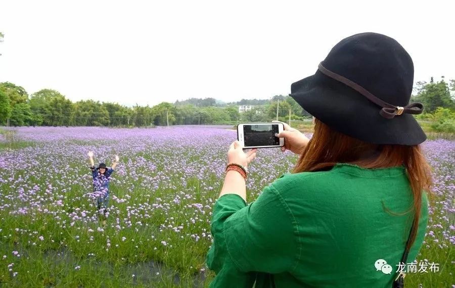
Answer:
M404 166L346 163L284 174L249 205L236 194L223 195L212 212L206 261L216 276L210 286L391 287L414 213L404 212L413 199ZM407 263L416 259L427 223L424 191ZM393 270L378 270L379 259Z

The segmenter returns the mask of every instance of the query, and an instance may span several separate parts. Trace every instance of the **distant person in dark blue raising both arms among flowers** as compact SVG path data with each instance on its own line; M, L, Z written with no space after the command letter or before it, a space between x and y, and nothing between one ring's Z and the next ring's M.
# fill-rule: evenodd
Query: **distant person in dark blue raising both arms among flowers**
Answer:
M97 195L97 208L99 211L103 209L103 212L105 213L109 204L110 176L112 172L115 171L114 169L118 164L119 157L115 155L115 160L111 168L107 168L104 163L100 163L98 167L95 168L92 151L88 152L88 159L90 160L90 170L92 170L93 176L93 191Z

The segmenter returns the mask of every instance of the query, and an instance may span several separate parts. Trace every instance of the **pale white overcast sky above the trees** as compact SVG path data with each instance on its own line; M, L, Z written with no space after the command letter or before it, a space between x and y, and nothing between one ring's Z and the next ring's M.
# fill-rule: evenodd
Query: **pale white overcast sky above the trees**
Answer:
M395 38L415 81L455 79L455 1L2 1L0 82L155 105L288 94L359 32Z

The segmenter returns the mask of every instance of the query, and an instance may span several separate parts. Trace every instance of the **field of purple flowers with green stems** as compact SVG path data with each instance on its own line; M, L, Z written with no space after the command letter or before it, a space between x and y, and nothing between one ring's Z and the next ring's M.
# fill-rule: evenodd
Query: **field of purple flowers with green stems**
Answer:
M226 128L17 128L15 138L29 145L0 151L0 285L208 285L211 209L236 139ZM455 141L424 146L435 197L418 260L440 266L409 273L406 285L450 286ZM106 217L96 212L88 151L96 165L120 156ZM260 150L249 166L248 200L295 161L279 149Z

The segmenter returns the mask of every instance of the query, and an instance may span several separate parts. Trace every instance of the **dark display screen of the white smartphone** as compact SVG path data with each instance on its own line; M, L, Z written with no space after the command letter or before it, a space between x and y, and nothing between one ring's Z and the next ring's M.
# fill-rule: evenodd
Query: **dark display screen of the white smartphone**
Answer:
M278 132L278 124L243 125L245 147L279 146L280 138L275 136Z

